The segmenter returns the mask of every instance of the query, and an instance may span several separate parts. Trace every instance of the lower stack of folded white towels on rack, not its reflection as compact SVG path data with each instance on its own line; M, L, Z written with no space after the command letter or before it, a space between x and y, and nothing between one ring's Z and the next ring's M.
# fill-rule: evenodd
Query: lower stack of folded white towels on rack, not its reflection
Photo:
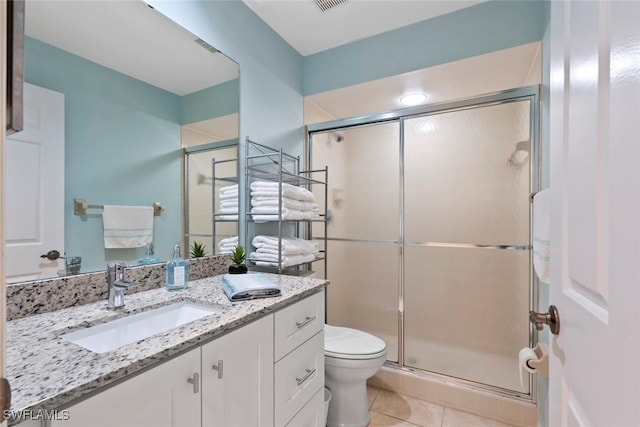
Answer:
M316 242L295 237L283 237L280 244L274 236L256 236L251 241L256 248L249 254L249 260L266 267L291 267L313 261L318 254Z

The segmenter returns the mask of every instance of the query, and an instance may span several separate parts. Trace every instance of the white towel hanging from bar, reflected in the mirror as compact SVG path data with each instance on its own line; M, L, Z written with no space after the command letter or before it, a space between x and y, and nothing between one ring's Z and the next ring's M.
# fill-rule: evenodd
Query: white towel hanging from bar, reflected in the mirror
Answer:
M153 207L104 205L104 247L141 248L153 242Z

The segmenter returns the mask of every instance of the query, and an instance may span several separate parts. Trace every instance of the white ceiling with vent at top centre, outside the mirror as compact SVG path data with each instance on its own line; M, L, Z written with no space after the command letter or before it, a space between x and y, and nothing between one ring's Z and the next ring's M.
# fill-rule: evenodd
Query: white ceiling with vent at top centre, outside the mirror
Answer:
M486 0L347 0L322 12L313 0L242 0L303 56Z

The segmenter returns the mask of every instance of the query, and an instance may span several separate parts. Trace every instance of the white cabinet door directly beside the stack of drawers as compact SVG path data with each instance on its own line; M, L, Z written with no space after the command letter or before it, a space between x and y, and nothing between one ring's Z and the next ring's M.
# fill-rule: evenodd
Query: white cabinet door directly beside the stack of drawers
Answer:
M273 315L202 346L202 426L273 426Z

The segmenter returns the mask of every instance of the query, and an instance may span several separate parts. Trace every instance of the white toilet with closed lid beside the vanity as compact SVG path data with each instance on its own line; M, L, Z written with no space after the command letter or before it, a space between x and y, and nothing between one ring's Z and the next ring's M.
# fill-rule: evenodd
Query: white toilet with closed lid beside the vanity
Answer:
M369 424L367 378L387 358L380 338L356 329L324 325L325 385L331 391L328 427Z

